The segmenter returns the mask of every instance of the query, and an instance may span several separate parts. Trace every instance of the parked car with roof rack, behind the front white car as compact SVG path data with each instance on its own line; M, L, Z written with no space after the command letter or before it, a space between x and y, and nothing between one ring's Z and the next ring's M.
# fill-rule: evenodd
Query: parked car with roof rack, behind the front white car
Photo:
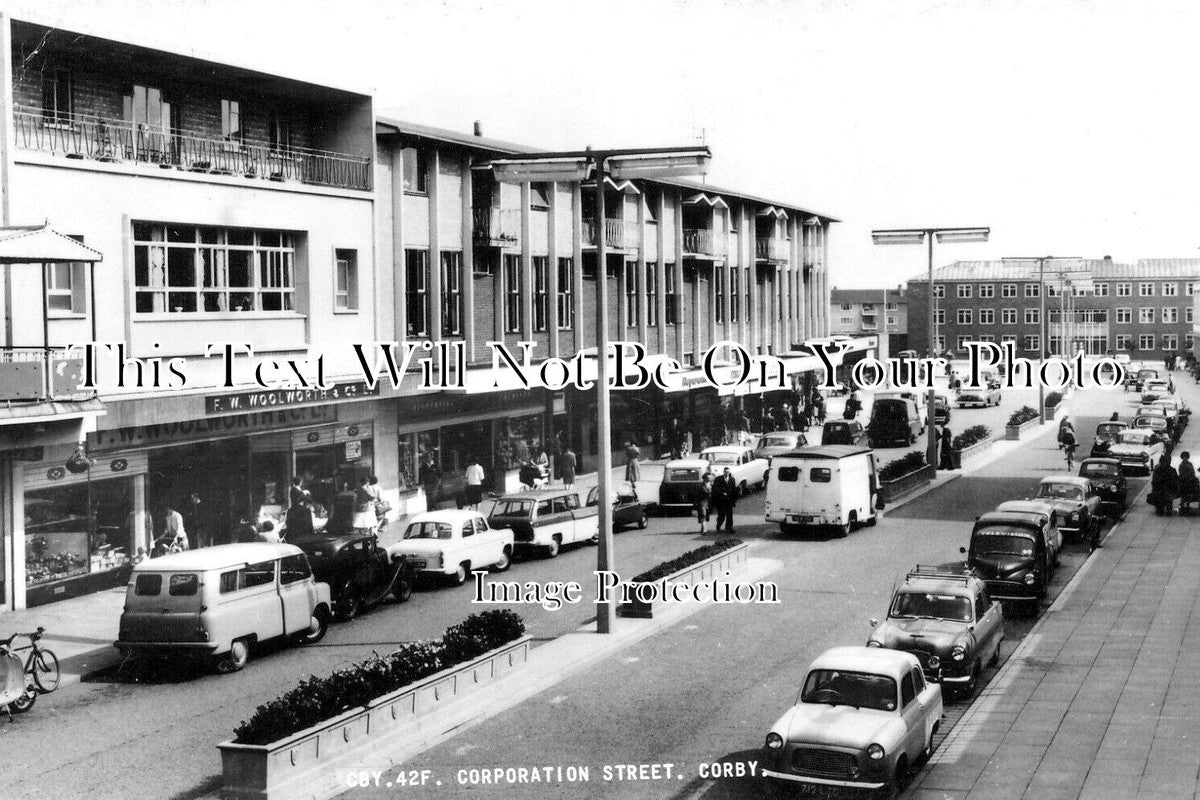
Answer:
M943 693L954 687L970 698L984 663L1000 661L1004 612L977 575L917 565L893 593L887 619L871 627L866 646L911 652Z

